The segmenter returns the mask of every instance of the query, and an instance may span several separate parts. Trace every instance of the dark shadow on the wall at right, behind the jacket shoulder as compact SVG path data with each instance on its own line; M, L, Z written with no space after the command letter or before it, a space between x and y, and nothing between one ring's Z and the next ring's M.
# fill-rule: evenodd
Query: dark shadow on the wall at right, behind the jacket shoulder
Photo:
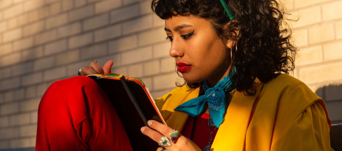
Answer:
M321 87L315 92L327 106L332 124L342 123L342 84Z

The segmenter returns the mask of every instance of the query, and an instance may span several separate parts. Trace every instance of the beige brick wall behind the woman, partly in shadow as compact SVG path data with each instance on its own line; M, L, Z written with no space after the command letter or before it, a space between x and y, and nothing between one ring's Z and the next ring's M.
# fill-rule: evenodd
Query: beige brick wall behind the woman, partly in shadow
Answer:
M164 23L149 0L0 0L0 149L35 146L37 109L55 80L114 60L112 72L141 77L159 97L175 87ZM290 0L301 48L294 74L342 123L342 0ZM340 70L339 70L340 69Z

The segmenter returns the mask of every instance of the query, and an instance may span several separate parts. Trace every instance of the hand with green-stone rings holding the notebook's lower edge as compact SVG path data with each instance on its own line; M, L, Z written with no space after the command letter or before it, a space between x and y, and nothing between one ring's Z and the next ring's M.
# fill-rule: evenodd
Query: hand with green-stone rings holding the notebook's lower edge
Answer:
M173 132L171 127L168 127L164 124L161 124L154 120L149 120L147 124L151 127L142 127L140 130L141 132L148 136L149 138L153 139L157 143L161 141L163 136L166 136L170 139L170 133ZM159 147L157 151L161 151L163 148ZM178 139L175 142L171 143L171 146L165 147L168 151L200 151L201 149L190 139L186 138L185 136L179 134Z

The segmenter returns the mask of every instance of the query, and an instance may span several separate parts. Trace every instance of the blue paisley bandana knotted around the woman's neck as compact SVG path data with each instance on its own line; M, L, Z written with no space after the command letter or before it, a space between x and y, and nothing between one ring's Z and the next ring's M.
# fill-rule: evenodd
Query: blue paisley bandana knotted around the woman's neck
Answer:
M204 103L208 102L210 116L216 127L220 127L223 122L223 114L226 106L226 91L231 90L234 86L231 77L233 73L225 76L214 87L209 88L208 81L203 82L203 90L205 94L197 98L191 99L175 108L175 111L185 112L193 117L203 112Z

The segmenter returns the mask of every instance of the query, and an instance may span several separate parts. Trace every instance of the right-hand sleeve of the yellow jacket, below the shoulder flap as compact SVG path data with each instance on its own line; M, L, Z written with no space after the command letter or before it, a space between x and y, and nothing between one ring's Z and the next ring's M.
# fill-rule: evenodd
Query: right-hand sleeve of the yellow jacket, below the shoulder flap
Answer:
M285 129L284 129L285 130ZM271 151L330 151L330 126L325 110L315 102L304 110L272 146Z

